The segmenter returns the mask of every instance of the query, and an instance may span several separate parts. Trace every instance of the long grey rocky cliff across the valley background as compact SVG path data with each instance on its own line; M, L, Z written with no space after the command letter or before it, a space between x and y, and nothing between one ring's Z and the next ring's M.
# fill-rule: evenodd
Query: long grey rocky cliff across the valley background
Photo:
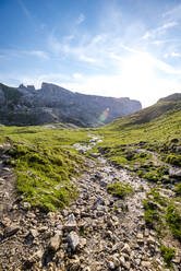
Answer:
M40 125L71 122L81 127L108 123L118 117L140 110L138 101L73 93L43 83L17 89L0 84L0 122L4 125Z

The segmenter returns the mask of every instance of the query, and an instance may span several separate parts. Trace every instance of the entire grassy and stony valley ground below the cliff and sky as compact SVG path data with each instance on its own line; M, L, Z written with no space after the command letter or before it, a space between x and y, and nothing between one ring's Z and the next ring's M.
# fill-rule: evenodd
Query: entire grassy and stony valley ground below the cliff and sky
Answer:
M1 126L0 269L180 270L174 97L100 128Z

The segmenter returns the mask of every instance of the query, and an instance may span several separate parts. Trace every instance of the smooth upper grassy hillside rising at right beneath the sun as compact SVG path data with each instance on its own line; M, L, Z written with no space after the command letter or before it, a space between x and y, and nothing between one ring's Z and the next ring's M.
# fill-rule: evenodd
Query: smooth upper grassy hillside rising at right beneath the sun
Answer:
M107 145L167 142L181 134L181 101L158 103L117 119L99 131L106 137L104 143Z

